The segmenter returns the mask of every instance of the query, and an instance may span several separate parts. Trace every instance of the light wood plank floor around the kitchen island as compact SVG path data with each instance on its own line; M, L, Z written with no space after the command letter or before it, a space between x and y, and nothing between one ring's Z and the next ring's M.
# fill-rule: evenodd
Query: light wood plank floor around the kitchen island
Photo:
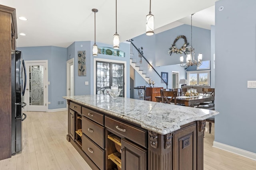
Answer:
M0 160L0 170L91 170L66 140L67 111L26 112L23 150ZM204 138L204 170L256 170L256 161L212 147L214 123Z

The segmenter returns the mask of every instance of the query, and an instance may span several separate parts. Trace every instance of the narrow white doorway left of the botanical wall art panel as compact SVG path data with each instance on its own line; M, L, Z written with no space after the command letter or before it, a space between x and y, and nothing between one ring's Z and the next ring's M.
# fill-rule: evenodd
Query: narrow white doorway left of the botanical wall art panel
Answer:
M67 96L74 96L74 58L67 61Z

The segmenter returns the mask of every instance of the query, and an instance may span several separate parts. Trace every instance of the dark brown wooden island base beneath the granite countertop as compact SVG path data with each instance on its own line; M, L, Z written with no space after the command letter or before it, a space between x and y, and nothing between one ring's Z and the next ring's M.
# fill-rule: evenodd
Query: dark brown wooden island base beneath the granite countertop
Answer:
M70 100L68 104L67 139L92 169L203 169L205 120L187 123L161 135L95 108ZM74 134L74 141L70 140L72 128L82 129L81 137Z

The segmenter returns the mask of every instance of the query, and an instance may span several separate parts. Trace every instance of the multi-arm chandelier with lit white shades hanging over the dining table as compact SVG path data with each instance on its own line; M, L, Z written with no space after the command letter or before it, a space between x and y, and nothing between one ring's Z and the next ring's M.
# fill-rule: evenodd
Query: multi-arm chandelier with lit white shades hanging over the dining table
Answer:
M187 55L187 58L186 58L186 63L183 63L184 61L184 58L183 56L180 56L180 66L184 67L189 67L189 66L193 66L193 65L196 65L196 66L200 66L202 65L202 53L199 53L198 55L198 61L195 60L195 49L192 47L192 15L194 14L191 14L191 46L190 48L188 49L188 54Z

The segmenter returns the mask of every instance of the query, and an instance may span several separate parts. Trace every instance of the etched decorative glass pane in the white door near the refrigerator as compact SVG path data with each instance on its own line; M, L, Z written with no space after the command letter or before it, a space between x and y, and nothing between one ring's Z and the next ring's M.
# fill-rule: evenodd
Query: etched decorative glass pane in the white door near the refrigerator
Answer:
M29 105L44 105L44 66L29 66Z

